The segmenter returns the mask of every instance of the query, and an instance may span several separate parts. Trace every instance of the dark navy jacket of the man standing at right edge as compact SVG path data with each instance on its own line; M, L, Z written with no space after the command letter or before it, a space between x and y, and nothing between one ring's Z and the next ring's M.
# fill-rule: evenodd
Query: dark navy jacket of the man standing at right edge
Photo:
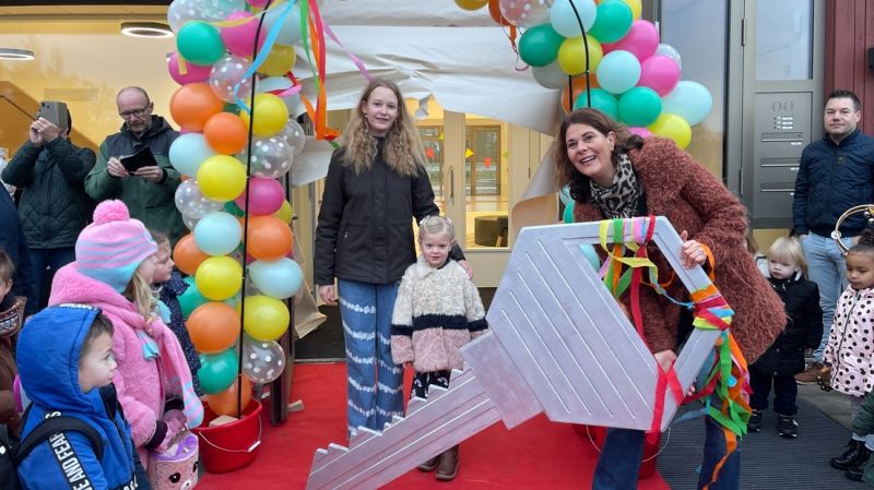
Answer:
M857 129L835 144L826 134L801 153L795 194L792 201L792 229L828 237L845 211L874 202L874 138ZM859 214L840 227L845 237L854 237L865 227Z

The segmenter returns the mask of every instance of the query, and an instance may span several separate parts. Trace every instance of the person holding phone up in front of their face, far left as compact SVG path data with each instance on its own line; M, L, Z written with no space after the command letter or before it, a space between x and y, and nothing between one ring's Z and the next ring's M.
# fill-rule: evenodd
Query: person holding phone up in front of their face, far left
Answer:
M59 117L63 119L52 120ZM31 249L37 290L27 300L28 312L45 306L48 298L43 291L51 276L75 259L75 239L94 208L84 182L95 155L70 142L70 128L72 118L66 104L42 103L27 141L0 174L4 182L22 190L19 217Z

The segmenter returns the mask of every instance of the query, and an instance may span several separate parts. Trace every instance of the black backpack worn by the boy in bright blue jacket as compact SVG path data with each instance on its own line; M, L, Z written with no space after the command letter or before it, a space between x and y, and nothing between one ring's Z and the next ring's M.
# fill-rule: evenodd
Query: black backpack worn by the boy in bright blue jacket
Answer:
M22 427L27 414L22 417ZM33 450L59 432L76 431L85 434L91 441L94 454L97 459L103 458L103 440L93 427L75 417L58 415L49 417L36 427L33 432L27 434L23 441L5 425L0 425L0 490L21 490L19 481L17 466L26 458Z

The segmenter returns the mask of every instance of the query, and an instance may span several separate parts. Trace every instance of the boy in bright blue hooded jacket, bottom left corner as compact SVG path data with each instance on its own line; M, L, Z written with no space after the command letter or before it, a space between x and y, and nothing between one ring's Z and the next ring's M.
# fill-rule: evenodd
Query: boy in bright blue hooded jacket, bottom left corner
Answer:
M20 463L24 489L150 488L113 385L113 323L99 309L60 304L34 315L19 337L17 364L32 401L22 440L45 418L59 414L81 419L103 441L98 459L82 432L50 437Z

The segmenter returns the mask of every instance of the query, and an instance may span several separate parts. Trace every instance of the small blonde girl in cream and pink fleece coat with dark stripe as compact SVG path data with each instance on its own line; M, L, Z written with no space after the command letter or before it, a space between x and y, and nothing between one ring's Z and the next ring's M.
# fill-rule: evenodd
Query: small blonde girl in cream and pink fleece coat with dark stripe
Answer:
M456 242L452 222L429 216L418 227L422 255L406 268L391 318L391 357L415 368L412 395L425 398L428 386L449 386L452 369L461 369L460 349L485 333L485 311L476 286L452 260ZM439 466L439 467L438 467ZM436 477L451 480L458 471L458 446L418 466L437 469Z

